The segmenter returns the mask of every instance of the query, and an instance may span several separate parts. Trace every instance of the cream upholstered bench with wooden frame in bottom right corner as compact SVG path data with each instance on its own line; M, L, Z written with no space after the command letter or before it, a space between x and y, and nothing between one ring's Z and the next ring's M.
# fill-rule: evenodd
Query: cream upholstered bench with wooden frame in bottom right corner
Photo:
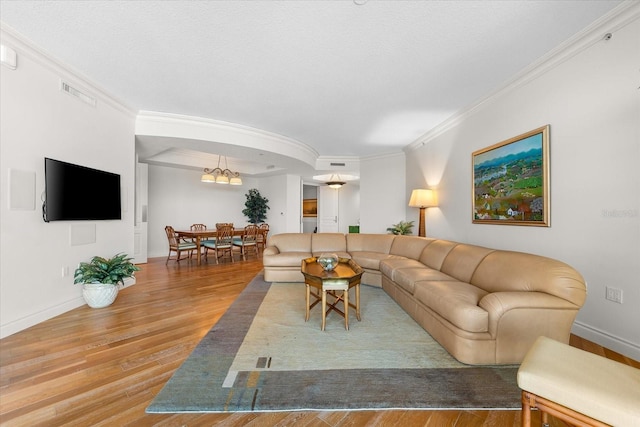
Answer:
M539 337L518 370L522 425L531 409L577 426L640 426L640 369ZM606 424L605 424L606 423Z

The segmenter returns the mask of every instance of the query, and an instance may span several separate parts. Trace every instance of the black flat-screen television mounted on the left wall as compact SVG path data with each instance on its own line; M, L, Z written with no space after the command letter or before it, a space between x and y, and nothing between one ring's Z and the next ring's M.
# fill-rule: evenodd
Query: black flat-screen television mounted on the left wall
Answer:
M44 176L46 222L122 219L120 175L45 157Z

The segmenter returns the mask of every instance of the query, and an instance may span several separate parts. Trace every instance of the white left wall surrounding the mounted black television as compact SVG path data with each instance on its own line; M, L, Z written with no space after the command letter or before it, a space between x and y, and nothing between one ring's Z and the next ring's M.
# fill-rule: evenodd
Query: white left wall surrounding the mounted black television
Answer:
M4 29L2 44L16 50L18 67L0 66L0 337L84 304L75 267L94 255L131 254L134 215L133 113ZM61 92L61 77L97 105ZM45 223L44 157L120 174L122 220ZM10 209L9 169L35 176L35 186L19 190L33 209ZM72 246L71 231L85 227L95 227L95 242Z

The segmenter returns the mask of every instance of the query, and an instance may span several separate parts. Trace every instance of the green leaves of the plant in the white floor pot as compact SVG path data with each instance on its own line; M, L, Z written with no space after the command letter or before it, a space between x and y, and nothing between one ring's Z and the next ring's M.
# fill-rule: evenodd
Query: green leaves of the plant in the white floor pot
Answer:
M73 283L106 283L124 285L124 279L132 277L140 268L134 265L126 254L117 254L107 259L94 256L89 262L81 262L74 275Z

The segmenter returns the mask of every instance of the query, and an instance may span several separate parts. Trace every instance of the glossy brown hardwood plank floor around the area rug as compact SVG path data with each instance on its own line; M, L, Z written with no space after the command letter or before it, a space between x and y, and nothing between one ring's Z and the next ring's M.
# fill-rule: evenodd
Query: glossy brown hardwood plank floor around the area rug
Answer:
M233 264L165 266L164 258L154 258L141 267L136 285L121 290L112 306L79 307L0 340L3 426L520 425L519 411L146 414L262 262L254 256ZM571 344L640 367L576 336Z

